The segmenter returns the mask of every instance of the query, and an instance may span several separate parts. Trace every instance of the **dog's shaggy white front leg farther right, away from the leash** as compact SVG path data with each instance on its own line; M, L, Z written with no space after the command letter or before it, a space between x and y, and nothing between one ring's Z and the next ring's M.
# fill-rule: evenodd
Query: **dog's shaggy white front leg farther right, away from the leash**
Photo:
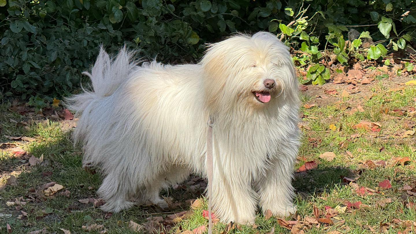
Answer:
M295 214L296 207L292 202L295 197L292 186L293 161L292 157L276 159L266 176L257 182L260 208L263 213L270 209L279 217Z

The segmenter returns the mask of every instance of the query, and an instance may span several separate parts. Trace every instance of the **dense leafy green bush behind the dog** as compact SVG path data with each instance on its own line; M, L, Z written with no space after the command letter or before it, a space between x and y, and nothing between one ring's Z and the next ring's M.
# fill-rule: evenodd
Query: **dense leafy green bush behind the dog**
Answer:
M316 63L303 82L322 84L322 56L348 63L404 49L415 10L412 0L0 0L0 92L32 102L69 95L99 45L185 62L201 57L204 42L259 30L294 48L297 65Z

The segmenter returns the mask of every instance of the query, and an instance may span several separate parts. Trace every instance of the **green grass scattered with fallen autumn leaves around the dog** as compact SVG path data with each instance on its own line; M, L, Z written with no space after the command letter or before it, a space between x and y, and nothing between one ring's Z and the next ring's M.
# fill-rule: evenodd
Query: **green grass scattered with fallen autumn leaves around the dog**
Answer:
M416 89L406 87L404 90L392 91L383 86L382 81L373 87L371 99L339 97L341 104L355 107L361 105L364 112L349 113L350 110L338 110L335 103L325 103L310 109L302 108L304 114L302 121L302 146L296 169L307 161L318 163L317 168L297 173L294 186L298 196L295 199L298 208L298 217L288 217L287 220L304 220L305 217L314 217L313 210L317 207L323 214L325 206L335 208L345 207L345 202L362 202L361 209L346 209L338 212L334 224L302 224L301 228L307 233L323 233L338 231L339 233L374 233L381 232L380 225L385 226L384 232L397 233L406 230L401 221L415 221L416 209L406 207L409 202L416 202L415 196L410 196L401 189L404 185L416 186L416 135L402 138L407 128L415 130L416 115L400 115L396 109L407 110L416 107ZM302 97L305 103L315 102L314 97ZM151 226L152 217L162 216L163 219L171 213L161 212L156 207L134 207L119 214L106 214L93 204L81 204L78 199L97 198L95 191L102 178L99 173L92 173L82 168L82 153L73 147L70 139L71 131L62 128L60 122L35 123L28 121L27 117L7 110L7 106L0 107L0 126L2 135L34 137L36 141L19 145L29 154L40 157L44 162L37 166L24 165L27 160L22 157L13 157L7 152L0 152L0 213L12 214L12 217L0 217L0 233L7 233L6 224L12 227L12 233L20 234L46 228L50 233L63 233L62 229L71 233L90 233L82 226L90 224L104 225L107 233L135 233L128 227L130 220ZM14 121L10 121L10 119ZM353 126L361 121L378 122L380 132L371 132L369 129L356 129ZM17 123L16 123L17 122ZM413 123L413 125L412 125ZM331 130L334 124L337 129ZM406 125L407 124L407 125ZM352 135L358 134L357 137ZM0 142L13 142L5 137ZM20 142L20 141L19 141ZM17 142L17 143L19 143ZM317 143L315 146L313 143ZM15 142L16 143L16 142ZM319 158L324 152L334 152L335 158L327 161ZM396 165L395 159L409 157L412 161L405 165ZM378 162L383 160L386 167L373 167L362 169L367 160ZM10 175L16 177L17 185L6 185ZM374 189L374 194L359 196L352 184L342 181L345 177L359 178L354 182L358 187ZM388 179L391 189L381 189L379 182ZM56 182L67 189L70 194L57 193L52 199L40 199L34 189L43 184ZM202 189L195 187L201 180L191 180L184 183L179 189L168 189L163 195L171 197L176 208L171 212L181 212L190 209L186 200L201 197ZM194 186L194 187L192 187ZM6 202L14 202L20 197L32 199L24 205L7 206ZM390 198L391 202L384 207L376 206L381 199ZM20 199L22 200L22 199ZM204 204L206 206L206 204ZM184 230L193 230L207 224L202 216L201 207L192 210L193 214L175 225L171 224L171 233L180 233ZM27 212L27 217L18 219L21 211ZM47 213L47 214L45 214ZM324 215L321 215L324 217ZM166 226L166 223L164 223ZM217 224L214 233L222 233L226 224ZM158 230L157 223L153 225ZM414 231L413 227L407 227ZM235 233L290 233L290 230L281 227L277 218L265 219L262 215L256 218L256 227L242 226L234 230ZM374 230L374 231L372 231ZM97 231L94 231L98 233ZM94 233L92 232L92 233ZM155 231L157 232L157 231ZM160 230L159 230L160 232ZM333 232L336 233L336 232ZM406 232L405 232L406 233Z

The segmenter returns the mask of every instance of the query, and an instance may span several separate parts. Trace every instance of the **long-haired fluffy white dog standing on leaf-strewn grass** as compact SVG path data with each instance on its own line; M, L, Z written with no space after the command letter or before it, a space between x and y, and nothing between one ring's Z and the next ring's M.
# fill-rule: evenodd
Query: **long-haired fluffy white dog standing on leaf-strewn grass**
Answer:
M79 116L75 142L84 164L102 168L102 209L133 199L166 207L161 189L190 173L207 175L206 128L213 125L213 211L223 222L253 222L258 206L296 211L291 180L299 147L298 82L288 48L275 35L235 35L209 45L198 64L132 62L103 50L94 92L69 99Z

